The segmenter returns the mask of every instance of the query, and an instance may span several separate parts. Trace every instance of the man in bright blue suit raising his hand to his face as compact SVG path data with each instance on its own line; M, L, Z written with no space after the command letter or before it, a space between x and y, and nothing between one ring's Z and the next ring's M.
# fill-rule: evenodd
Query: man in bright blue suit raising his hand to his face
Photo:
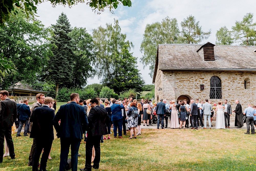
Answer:
M123 116L122 109L124 109L124 105L121 103L117 104L115 99L112 100L113 105L111 107L111 121L113 122L113 131L114 138L117 136L117 128L118 128L118 137L123 138L122 136L122 126L123 126Z

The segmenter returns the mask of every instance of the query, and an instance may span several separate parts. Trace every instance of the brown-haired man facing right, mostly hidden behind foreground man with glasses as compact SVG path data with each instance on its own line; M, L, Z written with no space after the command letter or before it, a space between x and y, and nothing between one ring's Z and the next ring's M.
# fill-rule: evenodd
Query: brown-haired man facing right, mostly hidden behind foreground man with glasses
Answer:
M34 104L31 108L31 116L30 116L30 125L29 125L29 131L31 131L32 125L33 125L33 111L35 108L41 107L45 102L45 95L42 93L38 93L36 95L37 102ZM28 157L28 166L32 166L33 163L33 156L35 153L36 148L36 138L33 138L33 144L30 149L29 157ZM39 166L39 162L37 163Z

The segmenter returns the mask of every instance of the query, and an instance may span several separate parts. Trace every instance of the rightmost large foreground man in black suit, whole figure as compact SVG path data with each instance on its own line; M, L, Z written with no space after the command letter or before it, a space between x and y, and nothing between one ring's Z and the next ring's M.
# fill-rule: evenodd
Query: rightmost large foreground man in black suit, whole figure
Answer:
M100 139L102 135L108 134L107 125L110 122L109 115L105 108L99 106L100 102L97 99L92 99L91 110L88 115L88 137L86 140L86 161L85 167L80 170L91 171L92 167L94 169L99 168L100 163ZM95 149L95 158L93 161L93 166L91 165L92 160L92 147Z

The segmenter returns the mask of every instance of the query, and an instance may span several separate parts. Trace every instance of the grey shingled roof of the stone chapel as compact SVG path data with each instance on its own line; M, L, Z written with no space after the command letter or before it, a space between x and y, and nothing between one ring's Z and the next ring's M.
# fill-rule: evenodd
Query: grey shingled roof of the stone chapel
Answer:
M197 51L202 46L203 44L158 45L153 83L155 82L157 67L162 71L256 71L256 46L215 45L215 60L212 61L206 61L200 57Z

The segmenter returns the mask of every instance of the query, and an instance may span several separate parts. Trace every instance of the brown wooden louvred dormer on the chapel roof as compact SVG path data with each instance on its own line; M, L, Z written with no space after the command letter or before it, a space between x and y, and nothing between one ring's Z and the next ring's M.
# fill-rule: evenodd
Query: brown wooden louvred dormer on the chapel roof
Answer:
M211 44L210 42L207 42L203 46L201 46L197 52L200 55L200 57L205 61L214 61L214 44Z

